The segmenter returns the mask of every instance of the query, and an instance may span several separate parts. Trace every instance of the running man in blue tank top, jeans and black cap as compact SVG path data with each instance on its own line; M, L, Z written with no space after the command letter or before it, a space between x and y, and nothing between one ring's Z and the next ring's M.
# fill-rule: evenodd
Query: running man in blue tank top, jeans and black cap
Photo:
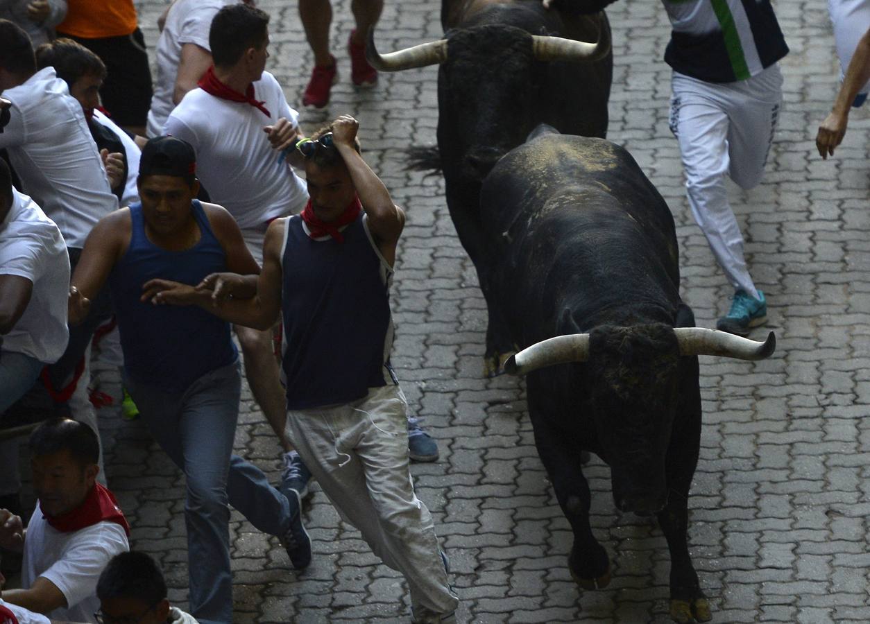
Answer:
M155 307L144 284L157 276L197 284L215 271L258 273L238 225L222 207L198 202L193 148L151 139L139 163L141 202L91 231L70 287L70 323L109 282L124 350L124 385L151 435L187 478L191 613L231 624L230 510L280 536L295 568L311 561L298 506L259 468L232 455L241 378L230 326L196 307Z

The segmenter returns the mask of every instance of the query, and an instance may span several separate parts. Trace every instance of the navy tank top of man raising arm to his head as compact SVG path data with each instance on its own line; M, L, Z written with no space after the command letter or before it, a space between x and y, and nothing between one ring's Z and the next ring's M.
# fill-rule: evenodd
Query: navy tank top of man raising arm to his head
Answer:
M390 367L392 271L374 248L364 214L344 242L312 240L299 216L285 226L281 304L287 408L361 399L396 383Z

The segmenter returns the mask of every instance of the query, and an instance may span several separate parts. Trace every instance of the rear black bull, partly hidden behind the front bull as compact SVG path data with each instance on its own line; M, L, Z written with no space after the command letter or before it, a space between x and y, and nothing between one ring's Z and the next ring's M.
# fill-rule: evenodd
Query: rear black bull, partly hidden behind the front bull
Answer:
M440 64L438 166L444 172L447 206L459 240L478 270L489 303L485 369L494 375L513 345L499 309L490 301L480 184L498 159L523 143L539 123L564 134L606 136L610 27L604 12L588 17L546 10L540 0L445 3L443 16L445 39L438 50L428 50L424 61L383 63L391 55L378 55L371 36L368 56L379 70ZM572 43L598 40L599 47L585 58L570 52L541 53L532 36ZM438 42L425 45L438 47Z

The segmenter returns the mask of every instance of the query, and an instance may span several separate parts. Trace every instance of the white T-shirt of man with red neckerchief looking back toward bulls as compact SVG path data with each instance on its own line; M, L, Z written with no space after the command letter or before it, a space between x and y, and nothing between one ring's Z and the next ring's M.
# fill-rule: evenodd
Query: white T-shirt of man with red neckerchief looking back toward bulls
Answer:
M166 120L165 134L191 143L197 177L211 201L236 217L242 229L262 229L278 216L300 212L308 201L305 183L272 149L265 126L280 117L298 127L281 85L268 71L254 83L254 97L271 114L246 102L231 102L194 89Z

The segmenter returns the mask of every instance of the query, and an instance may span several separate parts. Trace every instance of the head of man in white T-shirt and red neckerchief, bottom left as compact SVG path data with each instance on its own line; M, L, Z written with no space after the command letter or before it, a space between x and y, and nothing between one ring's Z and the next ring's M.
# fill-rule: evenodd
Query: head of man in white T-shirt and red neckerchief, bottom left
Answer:
M65 514L90 494L100 471L99 441L82 422L56 418L30 435L30 466L39 507L47 515Z

